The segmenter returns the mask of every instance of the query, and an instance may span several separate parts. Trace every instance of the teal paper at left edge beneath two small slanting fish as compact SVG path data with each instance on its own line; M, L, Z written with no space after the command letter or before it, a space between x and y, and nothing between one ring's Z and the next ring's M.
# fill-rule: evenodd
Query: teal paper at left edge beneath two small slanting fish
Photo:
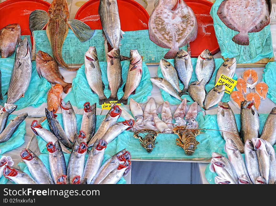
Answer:
M10 122L9 120L12 120L16 116L17 115L10 114L8 117L6 126ZM8 152L10 150L13 150L13 149L21 146L24 143L24 134L26 133L25 125L26 125L26 122L24 120L18 126L17 130L13 133L13 135L7 142L0 143L1 154Z

